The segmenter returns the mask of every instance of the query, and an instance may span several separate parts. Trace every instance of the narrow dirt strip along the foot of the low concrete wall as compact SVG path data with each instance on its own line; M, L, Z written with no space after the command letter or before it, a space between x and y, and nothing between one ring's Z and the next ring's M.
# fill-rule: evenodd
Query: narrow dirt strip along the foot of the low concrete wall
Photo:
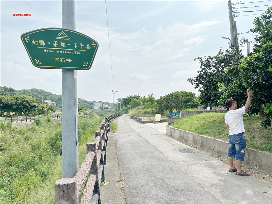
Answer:
M181 142L181 143L183 143L183 144L185 144L185 145L188 145L188 146L191 146L191 147L193 147L193 148L196 148L196 149L198 149L199 151L206 152L207 154L209 154L209 155L215 157L216 159L218 159L218 160L224 162L225 164L228 164L228 159L227 159L227 157L218 156L218 155L216 155L216 154L214 154L214 153L212 153L212 152L210 152L210 151L207 151L207 150L202 149L202 148L200 148L200 147L197 147L197 146L195 146L195 145L191 145L191 144L189 144L189 143L187 143L187 142L184 142L184 141L182 141L182 140L180 140L180 139L177 139L177 138L175 138L175 137L172 137L172 136L170 136L170 135L166 135L166 136L171 137L171 138L175 139L176 141L179 141L179 142ZM226 153L226 155L227 155L227 153ZM235 162L234 162L234 163L235 163ZM253 177L256 177L256 178L258 178L258 179L262 179L262 180L264 180L264 181L272 182L272 177L271 177L271 176L266 175L266 174L261 173L261 172L258 172L258 171L254 170L254 169L252 169L252 168L248 168L248 167L245 167L245 166L242 165L242 170L245 171L245 172L249 172L250 175L253 176ZM271 186L271 187L272 187L272 186Z

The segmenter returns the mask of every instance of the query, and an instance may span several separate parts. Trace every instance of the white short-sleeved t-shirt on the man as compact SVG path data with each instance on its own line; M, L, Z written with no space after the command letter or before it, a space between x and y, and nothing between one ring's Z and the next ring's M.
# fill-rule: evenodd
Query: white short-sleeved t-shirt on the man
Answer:
M245 106L239 109L230 110L225 115L225 122L230 126L229 135L245 132L243 114Z

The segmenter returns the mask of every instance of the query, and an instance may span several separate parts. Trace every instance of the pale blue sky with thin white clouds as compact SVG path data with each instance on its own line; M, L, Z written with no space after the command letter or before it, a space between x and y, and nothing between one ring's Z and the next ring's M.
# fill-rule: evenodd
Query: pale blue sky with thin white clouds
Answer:
M255 34L245 32L272 1L232 1L237 2L242 3L236 5L237 12L258 10L234 18L237 32L243 33L238 40L254 42ZM118 91L114 102L129 95L198 94L187 82L200 69L194 59L214 56L220 47L229 49L229 40L221 38L230 37L227 0L107 0L106 4L107 13L105 0L76 0L76 31L99 44L91 69L77 71L79 98L112 102L113 88ZM0 0L0 7L0 85L62 94L62 70L34 67L20 39L32 30L61 28L62 1ZM13 16L20 13L31 16ZM241 48L246 55L245 45Z

